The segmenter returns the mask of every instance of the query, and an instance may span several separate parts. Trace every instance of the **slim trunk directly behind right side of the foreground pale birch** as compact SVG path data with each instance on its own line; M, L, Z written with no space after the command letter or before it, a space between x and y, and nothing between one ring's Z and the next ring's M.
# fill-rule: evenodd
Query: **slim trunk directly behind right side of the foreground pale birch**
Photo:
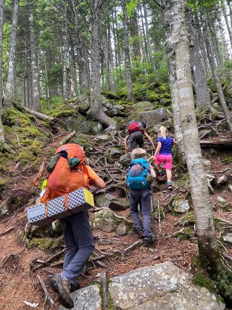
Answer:
M194 13L190 10L186 12L188 31L190 34L190 64L193 70L194 87L197 96L197 105L208 105L211 107L211 94L208 89L206 76L202 66L202 57L199 52L199 43L197 40L197 31Z

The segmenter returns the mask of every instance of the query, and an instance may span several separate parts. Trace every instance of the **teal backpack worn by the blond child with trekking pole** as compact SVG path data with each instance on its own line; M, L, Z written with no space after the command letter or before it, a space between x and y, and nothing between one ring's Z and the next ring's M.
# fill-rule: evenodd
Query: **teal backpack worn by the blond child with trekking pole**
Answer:
M138 158L130 162L127 169L127 187L130 189L148 189L151 182L148 182L147 175L150 174L150 164L144 158Z

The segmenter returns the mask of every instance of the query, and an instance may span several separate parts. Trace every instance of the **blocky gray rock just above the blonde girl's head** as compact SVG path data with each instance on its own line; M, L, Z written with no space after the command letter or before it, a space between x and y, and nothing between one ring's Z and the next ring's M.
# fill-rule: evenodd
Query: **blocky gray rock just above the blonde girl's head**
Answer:
M139 120L145 121L147 126L156 126L162 121L166 121L168 119L168 110L163 107L159 107L157 110L140 112Z

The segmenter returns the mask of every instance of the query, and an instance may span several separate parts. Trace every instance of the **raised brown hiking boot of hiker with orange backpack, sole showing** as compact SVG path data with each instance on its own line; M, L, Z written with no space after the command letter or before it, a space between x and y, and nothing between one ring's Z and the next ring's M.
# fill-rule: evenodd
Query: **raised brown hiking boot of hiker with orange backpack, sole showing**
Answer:
M51 287L58 295L58 300L65 308L72 309L74 302L71 299L69 286L69 279L62 278L61 275L53 275L50 280Z

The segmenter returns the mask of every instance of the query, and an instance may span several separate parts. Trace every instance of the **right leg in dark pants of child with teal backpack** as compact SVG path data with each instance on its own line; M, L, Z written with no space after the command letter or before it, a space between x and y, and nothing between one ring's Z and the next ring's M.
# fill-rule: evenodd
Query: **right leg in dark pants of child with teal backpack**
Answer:
M150 238L152 236L151 230L151 193L150 189L141 190L141 212L143 214L143 236Z

